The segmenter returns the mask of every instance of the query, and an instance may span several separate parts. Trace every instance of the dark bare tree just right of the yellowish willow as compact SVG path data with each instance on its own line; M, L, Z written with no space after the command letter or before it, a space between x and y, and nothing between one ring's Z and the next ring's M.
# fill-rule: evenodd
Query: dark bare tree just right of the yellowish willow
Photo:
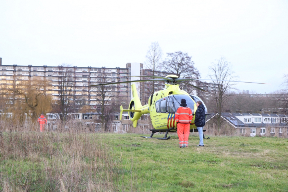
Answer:
M70 68L67 64L58 66L58 100L57 105L54 107L56 111L60 113L60 117L63 121L67 119L67 114L73 106L75 76L73 68Z

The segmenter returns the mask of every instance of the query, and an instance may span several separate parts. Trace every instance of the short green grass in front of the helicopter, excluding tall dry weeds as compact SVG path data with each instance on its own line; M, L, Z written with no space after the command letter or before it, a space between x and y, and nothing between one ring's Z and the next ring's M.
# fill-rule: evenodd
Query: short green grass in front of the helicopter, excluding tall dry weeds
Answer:
M171 136L171 135L170 135ZM288 191L287 139L210 136L205 147L110 134L120 191Z

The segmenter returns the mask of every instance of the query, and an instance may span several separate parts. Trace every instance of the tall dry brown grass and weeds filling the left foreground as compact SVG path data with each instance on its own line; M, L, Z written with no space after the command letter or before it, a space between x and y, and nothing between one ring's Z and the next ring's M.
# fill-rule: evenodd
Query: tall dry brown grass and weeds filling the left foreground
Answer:
M114 191L112 154L105 134L2 129L0 191Z

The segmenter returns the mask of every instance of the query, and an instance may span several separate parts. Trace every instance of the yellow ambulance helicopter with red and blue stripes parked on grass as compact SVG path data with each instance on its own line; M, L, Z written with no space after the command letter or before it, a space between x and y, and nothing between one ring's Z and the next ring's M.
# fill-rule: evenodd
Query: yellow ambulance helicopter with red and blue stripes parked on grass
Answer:
M130 120L133 121L133 127L137 126L137 121L140 119L140 117L143 114L149 113L150 118L151 118L151 123L154 129L150 130L152 132L150 137L145 137L145 136L142 136L142 137L152 138L156 132L166 132L163 138L157 138L157 139L164 139L164 140L170 139L170 136L167 137L168 132L177 132L175 112L177 111L177 108L181 104L181 99L186 100L187 107L190 107L193 113L193 119L192 119L192 122L190 123L190 132L198 132L194 124L194 120L195 120L194 113L197 110L197 106L196 106L197 101L201 101L203 103L205 107L205 113L207 115L207 108L204 102L198 96L189 95L186 91L181 90L179 88L179 84L177 83L182 82L198 90L205 91L185 81L192 81L192 80L228 81L228 80L213 80L213 79L184 79L184 78L179 78L177 75L167 75L166 77L158 77L158 76L130 76L130 77L151 77L151 78L156 78L156 79L102 83L102 84L90 85L90 86L111 85L111 84L118 84L118 83L133 83L133 82L143 82L143 81L166 81L164 89L154 92L154 94L152 94L149 97L148 104L143 105L143 106L138 97L136 85L134 83L131 84L133 98L130 101L129 109L123 109L122 106L120 107L120 120L122 118L123 111L128 112ZM244 82L244 81L233 81L233 82L253 83L253 82ZM266 84L266 83L259 83L259 84ZM206 130L203 130L203 132L205 131Z

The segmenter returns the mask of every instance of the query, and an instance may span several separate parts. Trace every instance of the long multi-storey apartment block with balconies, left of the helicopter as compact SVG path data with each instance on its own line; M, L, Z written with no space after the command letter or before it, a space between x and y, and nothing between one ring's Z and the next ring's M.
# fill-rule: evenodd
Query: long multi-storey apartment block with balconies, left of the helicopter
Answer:
M137 71L138 70L138 71ZM46 94L51 95L54 100L59 99L59 79L64 73L69 73L73 83L74 104L97 105L97 89L89 85L128 81L133 75L142 75L143 64L127 63L126 68L108 67L77 67L77 66L19 66L0 65L0 89L1 95L7 99L7 103L13 104L16 100L24 99L17 96L15 90L23 83L33 80L46 80L48 84ZM141 84L142 85L142 84ZM142 95L142 87L139 87L139 95ZM130 83L113 84L108 90L108 94L117 96L120 99L128 100L131 94Z

